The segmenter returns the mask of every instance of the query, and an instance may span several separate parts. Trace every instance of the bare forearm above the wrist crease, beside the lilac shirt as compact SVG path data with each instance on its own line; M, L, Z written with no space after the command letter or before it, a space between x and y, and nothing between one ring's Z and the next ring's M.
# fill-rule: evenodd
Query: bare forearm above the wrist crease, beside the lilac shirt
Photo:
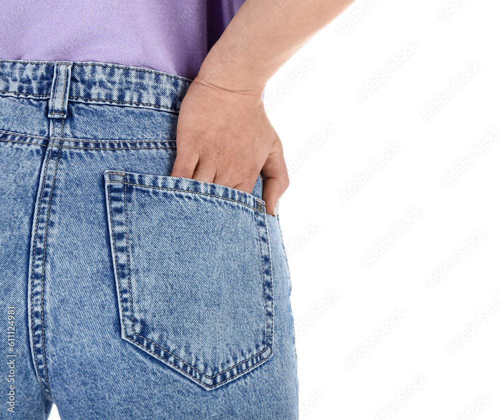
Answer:
M209 51L198 78L261 93L271 76L354 0L246 0Z

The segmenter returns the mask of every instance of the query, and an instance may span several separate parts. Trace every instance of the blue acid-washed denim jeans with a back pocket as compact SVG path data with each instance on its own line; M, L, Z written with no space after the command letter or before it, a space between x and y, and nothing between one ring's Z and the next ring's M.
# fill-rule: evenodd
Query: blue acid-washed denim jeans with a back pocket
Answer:
M0 418L298 418L265 181L168 176L189 84L0 60Z

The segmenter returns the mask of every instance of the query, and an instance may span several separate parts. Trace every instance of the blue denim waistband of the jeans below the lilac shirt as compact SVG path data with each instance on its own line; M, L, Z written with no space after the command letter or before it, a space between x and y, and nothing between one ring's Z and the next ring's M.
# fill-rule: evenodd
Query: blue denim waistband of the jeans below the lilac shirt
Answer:
M66 101L177 113L190 83L180 76L120 64L0 59L1 96L55 102L58 92Z

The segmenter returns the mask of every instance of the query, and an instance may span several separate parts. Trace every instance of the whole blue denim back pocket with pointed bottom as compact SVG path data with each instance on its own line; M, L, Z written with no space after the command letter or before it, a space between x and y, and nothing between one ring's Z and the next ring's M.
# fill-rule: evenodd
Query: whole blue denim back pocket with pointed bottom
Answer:
M121 337L214 389L272 356L264 203L186 178L105 171Z

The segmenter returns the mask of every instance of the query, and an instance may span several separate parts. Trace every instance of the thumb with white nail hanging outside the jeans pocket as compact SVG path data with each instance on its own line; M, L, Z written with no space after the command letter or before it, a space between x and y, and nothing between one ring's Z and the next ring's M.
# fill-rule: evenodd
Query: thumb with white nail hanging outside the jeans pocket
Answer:
M277 137L272 145L271 153L262 167L262 174L266 177L262 191L265 211L271 216L276 216L279 197L283 195L290 184L283 147Z

